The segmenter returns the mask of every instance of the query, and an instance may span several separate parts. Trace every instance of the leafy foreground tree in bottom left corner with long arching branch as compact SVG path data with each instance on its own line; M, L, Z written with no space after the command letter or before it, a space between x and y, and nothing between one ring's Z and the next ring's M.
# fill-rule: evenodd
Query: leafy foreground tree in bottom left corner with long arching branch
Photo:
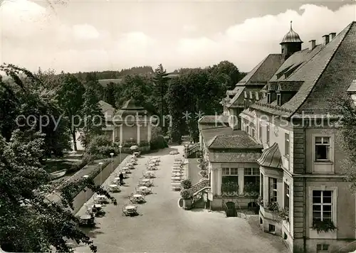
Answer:
M68 183L58 190L61 202L53 202L51 177L42 168L43 134L17 129L10 141L0 139L0 247L6 252L73 252L67 239L87 244L93 241L78 229L78 218L70 212L73 192L87 186L104 194L91 179Z

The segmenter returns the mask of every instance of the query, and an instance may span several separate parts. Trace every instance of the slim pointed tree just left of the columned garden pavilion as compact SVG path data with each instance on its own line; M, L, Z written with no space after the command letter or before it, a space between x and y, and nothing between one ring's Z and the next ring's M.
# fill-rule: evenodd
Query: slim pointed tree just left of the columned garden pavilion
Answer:
M84 92L84 103L82 109L83 124L81 128L80 141L85 148L95 135L103 134L105 126L105 117L100 108L99 99L95 93L94 87L87 85Z

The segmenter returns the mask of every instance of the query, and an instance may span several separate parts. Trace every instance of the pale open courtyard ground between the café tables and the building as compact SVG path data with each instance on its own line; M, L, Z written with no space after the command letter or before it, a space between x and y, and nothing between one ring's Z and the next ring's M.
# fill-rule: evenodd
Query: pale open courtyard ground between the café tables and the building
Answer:
M121 193L114 193L118 205L108 205L105 217L97 218L97 228L88 235L98 246L98 252L283 252L286 248L279 237L257 229L258 219L226 218L222 212L205 210L185 211L179 208L179 192L171 190L173 146L138 159L136 169ZM128 196L135 186L145 163L151 156L160 156L156 171L155 194L147 195L147 203L138 205L140 216L122 216L122 206L129 203ZM108 179L110 181L110 178ZM79 214L83 214L83 208ZM252 225L250 225L250 223ZM75 252L90 252L88 247L76 247Z

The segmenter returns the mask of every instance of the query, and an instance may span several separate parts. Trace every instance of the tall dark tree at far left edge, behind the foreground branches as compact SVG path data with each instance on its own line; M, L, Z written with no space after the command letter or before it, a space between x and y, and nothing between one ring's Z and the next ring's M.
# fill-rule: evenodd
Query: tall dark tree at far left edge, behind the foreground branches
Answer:
M46 79L45 74L33 75L25 68L15 65L0 65L0 70L11 77L7 82L0 82L0 103L6 110L1 111L1 133L9 141L15 129L36 129L46 134L45 154L63 155L63 150L70 149L68 119L62 117L63 110L56 99L56 78ZM48 82L43 82L43 80ZM46 87L49 83L53 86Z

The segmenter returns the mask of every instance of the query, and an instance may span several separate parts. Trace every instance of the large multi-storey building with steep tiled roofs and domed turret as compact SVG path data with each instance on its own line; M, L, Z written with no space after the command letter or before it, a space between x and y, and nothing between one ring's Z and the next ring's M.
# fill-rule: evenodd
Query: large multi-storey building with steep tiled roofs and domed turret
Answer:
M337 138L340 126L336 122L340 116L335 102L356 93L353 87L356 22L337 35L323 36L320 45L312 40L309 48L301 50L302 43L298 33L290 28L281 41L281 58L273 56L281 60L280 65L276 60L266 63L271 65L273 73L270 77L270 73L265 75L268 81L264 87L247 90L248 85L241 89L236 86L237 92L228 92L231 97L224 99L225 114L233 115L241 123L230 126L231 131L238 129L240 138L234 132L227 134L236 136L231 138L236 146L246 143L248 136L249 149L262 147L261 155L253 162L259 167L258 203L264 231L282 236L290 252L350 252L355 249L355 244L350 242L356 239L356 203L341 171L345 154ZM239 111L229 109L229 103L241 108L243 104L234 99L239 93L244 94L245 109L236 117ZM225 174L214 171L214 162L209 159L216 155L209 148L214 143L212 140L228 137L226 129L219 131L216 127L210 135L206 133L211 130L201 124L199 129L201 146L206 150L211 168L209 180L214 203L216 199L224 199L221 190L213 185L224 181ZM230 142L219 141L219 144L227 147ZM230 150L231 155L225 151L226 161L233 161L231 157L248 151ZM224 164L219 164L226 171ZM242 176L239 169L231 169L235 164L241 168L236 160L234 166L229 164L229 173ZM242 181L238 179L238 183Z

